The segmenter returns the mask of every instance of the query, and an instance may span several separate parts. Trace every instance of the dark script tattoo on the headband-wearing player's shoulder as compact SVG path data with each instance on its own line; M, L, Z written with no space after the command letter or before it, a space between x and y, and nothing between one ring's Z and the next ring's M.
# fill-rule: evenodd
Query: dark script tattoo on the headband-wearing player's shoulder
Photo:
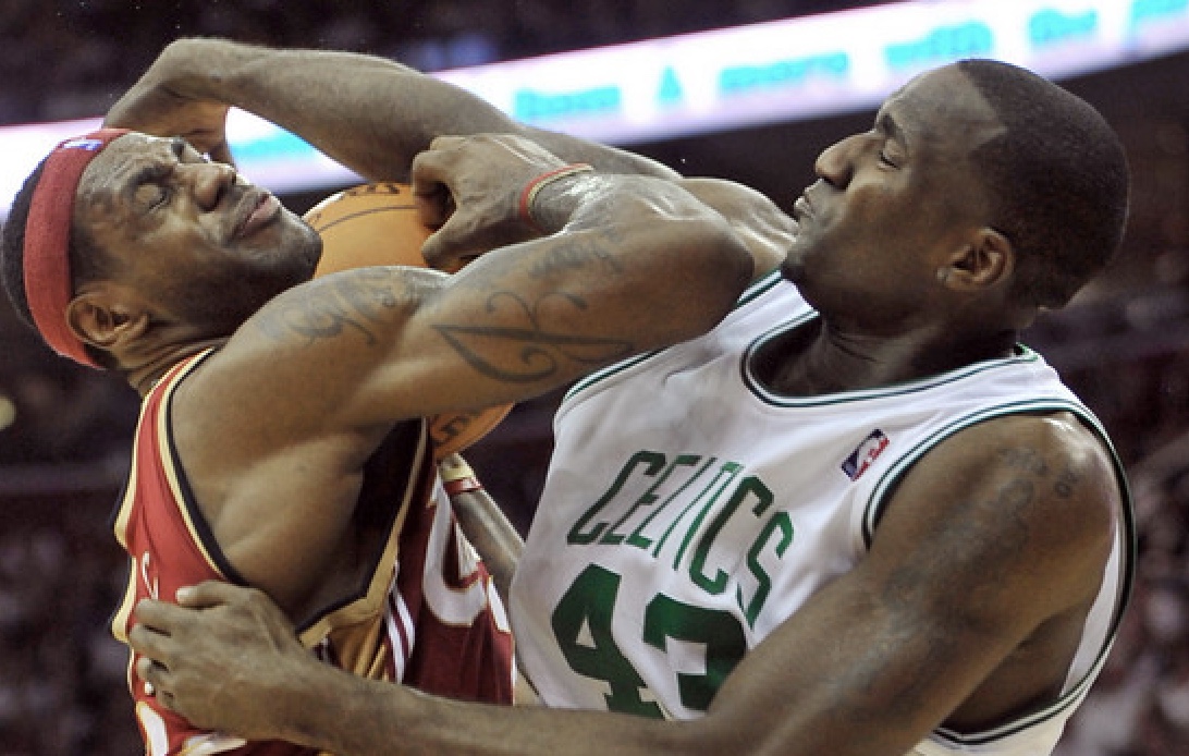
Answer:
M257 326L278 341L297 335L314 342L351 329L375 345L379 339L373 328L380 315L398 304L389 273L359 270L320 282L317 296L291 296L273 303L257 317Z

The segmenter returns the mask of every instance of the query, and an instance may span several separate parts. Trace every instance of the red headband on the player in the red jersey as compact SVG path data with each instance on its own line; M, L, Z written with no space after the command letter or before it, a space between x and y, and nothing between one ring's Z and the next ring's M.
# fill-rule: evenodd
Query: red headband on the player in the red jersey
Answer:
M45 159L25 222L25 298L37 330L55 352L99 367L70 330L70 219L82 172L126 128L100 128L67 139Z

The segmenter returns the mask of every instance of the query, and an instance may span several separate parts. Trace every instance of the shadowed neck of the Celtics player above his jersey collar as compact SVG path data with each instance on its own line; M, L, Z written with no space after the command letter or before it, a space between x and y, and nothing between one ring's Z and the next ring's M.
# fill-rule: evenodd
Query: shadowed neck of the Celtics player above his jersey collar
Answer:
M779 393L820 396L894 385L1009 357L1017 338L1014 330L964 338L931 332L856 336L817 320L765 345L755 367Z

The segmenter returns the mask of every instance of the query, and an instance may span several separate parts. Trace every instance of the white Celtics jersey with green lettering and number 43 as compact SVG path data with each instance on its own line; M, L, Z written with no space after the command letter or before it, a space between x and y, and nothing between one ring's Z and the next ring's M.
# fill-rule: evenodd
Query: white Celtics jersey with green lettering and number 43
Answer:
M899 475L935 445L1013 412L1068 410L1097 428L1024 347L885 389L766 391L748 355L813 317L773 275L705 336L567 395L511 598L521 662L543 703L698 717L743 654L863 557ZM1127 512L1116 530L1062 700L994 732L937 731L918 752L1052 749L1126 601Z

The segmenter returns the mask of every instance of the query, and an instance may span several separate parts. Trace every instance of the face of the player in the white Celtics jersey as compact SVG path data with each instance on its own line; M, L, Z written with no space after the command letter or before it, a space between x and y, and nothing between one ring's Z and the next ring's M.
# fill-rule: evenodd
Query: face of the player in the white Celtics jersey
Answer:
M910 82L870 131L818 158L819 181L794 206L786 277L830 316L911 327L927 315L943 260L988 222L968 158L1001 128L956 67Z

